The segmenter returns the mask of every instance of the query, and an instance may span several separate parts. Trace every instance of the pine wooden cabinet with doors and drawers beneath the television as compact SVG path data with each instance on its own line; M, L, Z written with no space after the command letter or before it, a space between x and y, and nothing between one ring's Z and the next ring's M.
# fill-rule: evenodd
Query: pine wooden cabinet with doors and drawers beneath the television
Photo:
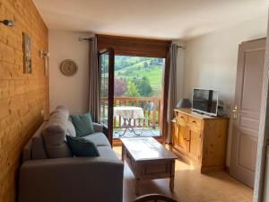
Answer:
M173 152L201 172L223 170L229 119L204 116L188 109L174 112Z

